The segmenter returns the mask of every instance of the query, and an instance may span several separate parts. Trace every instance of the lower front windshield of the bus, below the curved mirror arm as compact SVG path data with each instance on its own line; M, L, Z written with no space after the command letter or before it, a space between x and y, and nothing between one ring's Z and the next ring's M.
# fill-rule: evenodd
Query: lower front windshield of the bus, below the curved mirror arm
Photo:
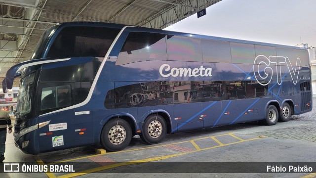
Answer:
M34 77L35 73L33 72L21 79L16 109L16 112L20 115L20 117L30 113L31 111L31 96L34 87Z

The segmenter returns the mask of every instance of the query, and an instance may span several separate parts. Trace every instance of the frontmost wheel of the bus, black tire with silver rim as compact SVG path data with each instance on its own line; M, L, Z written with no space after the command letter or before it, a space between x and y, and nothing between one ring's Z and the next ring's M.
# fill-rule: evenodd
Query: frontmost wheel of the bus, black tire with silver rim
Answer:
M128 146L131 139L131 127L123 119L112 119L102 129L101 145L108 151L123 150Z

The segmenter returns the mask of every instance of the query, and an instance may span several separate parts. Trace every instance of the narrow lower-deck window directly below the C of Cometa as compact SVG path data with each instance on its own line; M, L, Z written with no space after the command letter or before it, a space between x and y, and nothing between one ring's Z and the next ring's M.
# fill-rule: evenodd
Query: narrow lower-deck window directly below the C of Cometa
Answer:
M158 82L158 83L159 83L158 105L172 104L173 103L172 82Z

